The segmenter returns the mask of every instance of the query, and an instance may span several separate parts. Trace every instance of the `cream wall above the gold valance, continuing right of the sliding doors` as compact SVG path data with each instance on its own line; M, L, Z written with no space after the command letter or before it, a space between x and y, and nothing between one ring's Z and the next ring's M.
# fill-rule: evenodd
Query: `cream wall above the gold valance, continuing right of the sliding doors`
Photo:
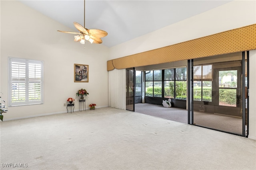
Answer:
M254 23L256 23L256 1L234 0L197 16L116 45L110 48L108 60L173 45ZM255 53L254 57L250 56L251 73L256 72L254 66L256 63L255 58ZM256 94L255 86L253 86L256 80L255 76L253 78L252 76L253 74L250 76L250 84L252 85L250 86L249 138L256 139L256 109L254 105L254 103L256 103L256 95L252 95Z

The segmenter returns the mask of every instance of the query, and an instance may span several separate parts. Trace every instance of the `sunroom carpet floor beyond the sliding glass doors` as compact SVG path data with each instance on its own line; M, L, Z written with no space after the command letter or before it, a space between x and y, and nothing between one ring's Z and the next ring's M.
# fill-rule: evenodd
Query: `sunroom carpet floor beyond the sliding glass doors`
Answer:
M180 123L188 123L188 110L186 109L140 103L135 104L135 111ZM194 111L194 124L242 135L242 118L239 117Z

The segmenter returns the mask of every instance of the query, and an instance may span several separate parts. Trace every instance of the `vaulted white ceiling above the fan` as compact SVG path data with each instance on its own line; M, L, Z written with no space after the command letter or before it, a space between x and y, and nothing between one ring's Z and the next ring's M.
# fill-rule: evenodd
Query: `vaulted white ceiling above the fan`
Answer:
M108 35L102 38L102 44L113 47L230 1L232 0L86 0L85 26L88 29L107 31ZM84 0L20 2L70 28L62 31L78 31L73 25L74 21L84 25Z

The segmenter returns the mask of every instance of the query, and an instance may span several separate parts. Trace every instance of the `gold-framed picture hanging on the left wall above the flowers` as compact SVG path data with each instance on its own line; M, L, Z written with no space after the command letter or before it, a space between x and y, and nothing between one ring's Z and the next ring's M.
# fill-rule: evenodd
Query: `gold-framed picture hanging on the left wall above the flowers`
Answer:
M89 82L89 65L74 64L74 82Z

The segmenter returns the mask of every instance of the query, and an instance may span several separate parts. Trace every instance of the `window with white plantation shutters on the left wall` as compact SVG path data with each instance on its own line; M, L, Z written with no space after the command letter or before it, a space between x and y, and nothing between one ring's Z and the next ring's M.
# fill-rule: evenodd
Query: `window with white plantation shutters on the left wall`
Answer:
M43 62L17 58L9 59L9 105L42 104Z

